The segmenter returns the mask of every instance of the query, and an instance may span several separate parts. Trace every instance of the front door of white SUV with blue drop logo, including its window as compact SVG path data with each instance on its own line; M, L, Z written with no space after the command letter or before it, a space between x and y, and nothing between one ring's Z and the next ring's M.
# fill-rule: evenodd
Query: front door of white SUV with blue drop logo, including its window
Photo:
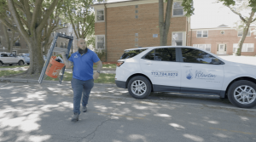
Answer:
M181 48L181 92L219 94L224 65L211 54L195 48Z

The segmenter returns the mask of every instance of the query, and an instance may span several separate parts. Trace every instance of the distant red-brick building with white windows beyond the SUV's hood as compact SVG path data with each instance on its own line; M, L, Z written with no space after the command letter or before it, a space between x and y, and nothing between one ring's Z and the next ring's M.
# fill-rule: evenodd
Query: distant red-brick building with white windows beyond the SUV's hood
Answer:
M241 55L255 55L256 34L251 27L241 49ZM225 25L208 29L191 29L191 44L196 48L203 48L212 54L235 54L237 43L240 41L242 31L236 31Z

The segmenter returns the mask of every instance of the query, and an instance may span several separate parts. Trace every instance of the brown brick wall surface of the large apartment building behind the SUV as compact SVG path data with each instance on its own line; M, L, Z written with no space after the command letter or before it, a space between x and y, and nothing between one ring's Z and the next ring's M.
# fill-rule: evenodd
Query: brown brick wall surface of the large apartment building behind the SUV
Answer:
M186 17L172 18L167 45L172 45L172 31L186 31L186 21ZM138 37L135 33L138 33ZM95 35L104 34L105 22L96 22ZM153 34L158 34L158 37L153 37ZM137 42L135 38L138 38ZM138 8L135 5L107 8L107 61L119 60L124 50L128 48L159 45L158 3L140 4ZM102 61L106 61L105 58L102 58Z

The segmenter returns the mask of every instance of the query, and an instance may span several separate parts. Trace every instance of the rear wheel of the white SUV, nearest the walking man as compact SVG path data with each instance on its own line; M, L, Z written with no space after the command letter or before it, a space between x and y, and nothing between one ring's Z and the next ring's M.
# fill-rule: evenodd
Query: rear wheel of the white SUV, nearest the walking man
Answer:
M137 85L137 87L134 85ZM133 98L145 99L151 93L151 83L143 76L132 77L128 82L128 90L129 94L131 94Z

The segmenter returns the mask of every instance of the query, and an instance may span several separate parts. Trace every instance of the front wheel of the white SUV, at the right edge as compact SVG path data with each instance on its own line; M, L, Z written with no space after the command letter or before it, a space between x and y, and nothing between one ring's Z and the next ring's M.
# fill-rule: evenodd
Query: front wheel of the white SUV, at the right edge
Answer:
M228 90L230 103L241 108L252 108L256 105L256 84L241 80L233 82Z

